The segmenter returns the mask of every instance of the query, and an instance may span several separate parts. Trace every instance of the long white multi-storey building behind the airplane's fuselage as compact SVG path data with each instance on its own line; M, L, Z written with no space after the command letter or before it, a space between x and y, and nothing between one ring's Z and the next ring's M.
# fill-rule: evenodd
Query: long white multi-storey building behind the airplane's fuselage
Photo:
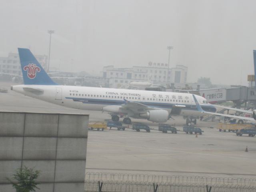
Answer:
M132 68L103 68L102 77L109 80L110 88L119 88L130 82L151 82L152 84L166 85L171 83L185 84L188 68L176 65L169 68L168 64L149 62L148 66L133 66Z

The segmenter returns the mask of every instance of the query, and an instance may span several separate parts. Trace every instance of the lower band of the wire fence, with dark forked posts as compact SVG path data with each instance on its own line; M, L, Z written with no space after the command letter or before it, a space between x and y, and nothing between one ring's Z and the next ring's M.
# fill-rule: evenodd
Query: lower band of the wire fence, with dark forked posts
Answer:
M206 183L85 181L85 192L255 192L256 187Z

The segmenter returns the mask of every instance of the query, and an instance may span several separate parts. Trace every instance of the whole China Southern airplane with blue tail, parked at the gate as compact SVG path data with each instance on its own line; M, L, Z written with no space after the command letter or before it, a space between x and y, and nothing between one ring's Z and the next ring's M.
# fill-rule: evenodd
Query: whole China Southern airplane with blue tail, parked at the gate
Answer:
M58 85L29 49L18 48L18 52L24 84L11 86L11 90L26 96L70 108L108 112L115 122L124 117L125 124L131 123L130 118L163 123L176 115L186 118L187 124L196 124L195 117L202 115L189 93ZM216 112L205 98L195 97L204 111Z

